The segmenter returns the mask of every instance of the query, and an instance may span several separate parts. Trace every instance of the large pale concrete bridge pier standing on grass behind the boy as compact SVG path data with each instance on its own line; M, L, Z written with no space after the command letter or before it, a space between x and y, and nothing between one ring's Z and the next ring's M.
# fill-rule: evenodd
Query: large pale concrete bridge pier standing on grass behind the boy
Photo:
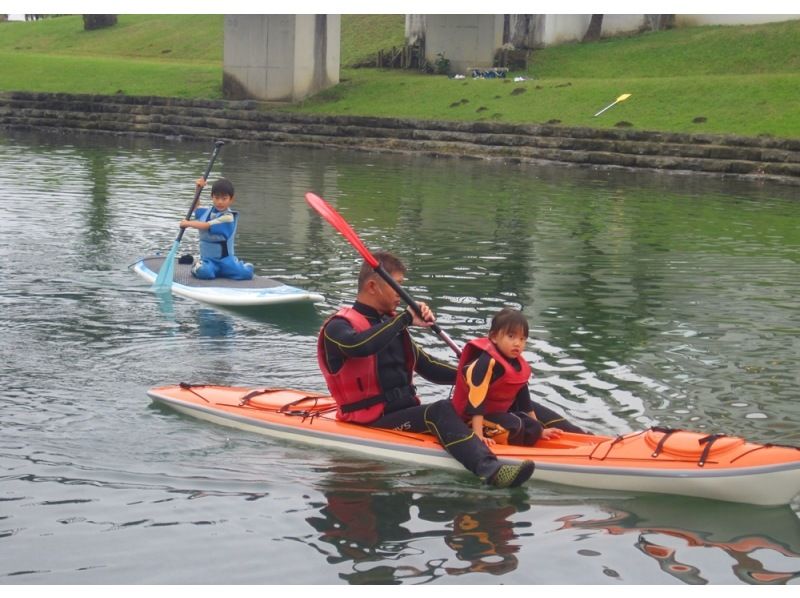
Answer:
M226 99L296 102L339 83L339 15L225 15Z

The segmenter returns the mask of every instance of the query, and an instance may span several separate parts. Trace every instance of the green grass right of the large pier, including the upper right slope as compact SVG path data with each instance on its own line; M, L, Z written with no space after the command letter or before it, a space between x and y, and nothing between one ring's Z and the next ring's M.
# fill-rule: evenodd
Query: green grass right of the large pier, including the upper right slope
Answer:
M293 109L800 137L800 21L565 44L536 50L527 72L505 80L374 69L342 76ZM631 98L594 117L623 93Z

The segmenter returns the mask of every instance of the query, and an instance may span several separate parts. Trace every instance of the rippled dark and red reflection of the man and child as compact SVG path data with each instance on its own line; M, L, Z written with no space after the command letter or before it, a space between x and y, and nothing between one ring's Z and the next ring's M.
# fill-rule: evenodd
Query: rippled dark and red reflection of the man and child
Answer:
M520 524L510 519L530 508L521 497L502 506L475 504L464 509L449 497L419 496L371 484L324 494L326 504L307 521L319 532L320 543L315 546L327 554L329 563L352 562L352 573L340 573L349 583L420 583L468 573L503 575L519 566L520 546L515 540ZM423 530L412 531L420 527L417 518L426 524ZM437 546L428 541L431 538L442 538L444 544ZM335 552L322 548L322 543Z

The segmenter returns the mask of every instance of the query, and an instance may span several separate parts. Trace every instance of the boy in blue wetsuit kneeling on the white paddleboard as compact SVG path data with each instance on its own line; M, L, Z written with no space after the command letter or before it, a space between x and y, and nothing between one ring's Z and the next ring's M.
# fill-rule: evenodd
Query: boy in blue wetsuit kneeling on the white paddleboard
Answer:
M200 188L205 187L206 180L201 177L196 184ZM239 212L231 209L233 200L233 183L228 179L219 179L211 186L213 206L198 206L194 211L194 220L181 220L181 228L196 228L200 233L200 259L192 267L192 274L196 278L253 278L253 264L242 262L233 251L233 239L239 221Z

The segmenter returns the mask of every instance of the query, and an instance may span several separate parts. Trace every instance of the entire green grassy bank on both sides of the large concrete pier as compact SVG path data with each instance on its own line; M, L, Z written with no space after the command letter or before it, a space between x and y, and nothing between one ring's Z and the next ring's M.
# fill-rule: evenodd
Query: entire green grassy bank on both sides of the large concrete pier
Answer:
M342 83L287 110L800 137L800 21L700 27L533 54L525 81L353 69L402 44L402 15L342 17ZM220 98L220 15L0 24L0 89ZM631 98L593 114L622 93Z

